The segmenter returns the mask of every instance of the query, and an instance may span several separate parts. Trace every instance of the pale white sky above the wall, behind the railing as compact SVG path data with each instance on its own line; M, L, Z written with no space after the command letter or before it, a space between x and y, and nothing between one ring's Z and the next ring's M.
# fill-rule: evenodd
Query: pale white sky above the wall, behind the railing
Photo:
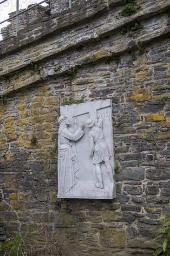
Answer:
M41 2L42 0L19 0L19 9L25 9L30 4L36 4ZM0 0L2 2L2 0ZM46 6L47 4L42 4ZM7 20L9 18L8 13L12 13L16 11L16 0L7 0L7 2L0 4L0 21ZM0 24L0 29L2 27L6 27L10 22L5 22ZM0 37L1 40L1 37Z

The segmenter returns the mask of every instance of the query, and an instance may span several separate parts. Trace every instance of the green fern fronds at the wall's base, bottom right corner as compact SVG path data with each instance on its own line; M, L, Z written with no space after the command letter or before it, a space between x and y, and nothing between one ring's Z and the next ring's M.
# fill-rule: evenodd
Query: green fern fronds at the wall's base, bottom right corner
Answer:
M161 216L158 220L163 220L163 228L159 229L159 234L155 239L163 237L164 240L157 244L158 247L152 256L170 256L170 209L168 215Z

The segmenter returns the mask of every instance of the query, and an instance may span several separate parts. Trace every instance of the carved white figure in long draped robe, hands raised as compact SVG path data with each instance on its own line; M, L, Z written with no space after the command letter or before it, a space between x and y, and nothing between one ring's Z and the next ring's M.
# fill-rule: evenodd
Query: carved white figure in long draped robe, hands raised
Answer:
M74 118L74 129L68 128L70 122L65 115L61 115L59 122L59 137L58 137L58 177L59 177L59 194L72 195L74 194L74 186L78 181L78 158L75 147L75 142L83 135L82 130L84 121L78 124Z

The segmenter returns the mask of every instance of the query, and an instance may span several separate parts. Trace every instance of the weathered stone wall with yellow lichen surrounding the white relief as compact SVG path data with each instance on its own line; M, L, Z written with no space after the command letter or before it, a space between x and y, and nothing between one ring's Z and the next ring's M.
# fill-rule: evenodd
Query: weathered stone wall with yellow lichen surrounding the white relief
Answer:
M149 256L170 208L170 3L63 2L0 42L0 239L36 243L41 222L70 256ZM107 98L117 198L58 199L59 106Z

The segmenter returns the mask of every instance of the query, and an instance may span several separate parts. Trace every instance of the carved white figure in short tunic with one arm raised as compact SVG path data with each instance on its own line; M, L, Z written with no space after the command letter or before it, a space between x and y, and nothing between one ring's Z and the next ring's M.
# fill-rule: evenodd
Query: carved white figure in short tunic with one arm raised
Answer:
M103 135L103 115L99 118L98 124L95 126L92 119L88 119L86 121L87 127L91 128L91 132L89 133L90 138L90 158L96 166L96 174L98 182L94 183L94 185L98 188L103 189L103 182L102 182L102 170L101 170L101 163L105 163L107 172L110 176L111 181L113 182L113 170L111 168L110 163L110 152L105 142L105 138Z

